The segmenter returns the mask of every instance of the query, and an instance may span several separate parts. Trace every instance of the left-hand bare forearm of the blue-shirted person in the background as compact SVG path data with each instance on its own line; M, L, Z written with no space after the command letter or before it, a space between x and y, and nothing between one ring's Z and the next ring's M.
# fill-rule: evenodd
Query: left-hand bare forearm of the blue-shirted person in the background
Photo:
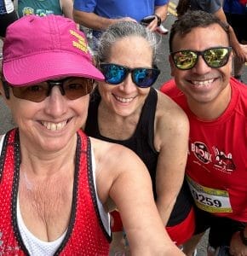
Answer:
M129 17L122 19L107 19L99 15L95 15L94 13L87 13L77 9L73 9L73 18L78 24L99 31L105 30L108 26L118 22L119 20L129 20L136 22L136 20Z

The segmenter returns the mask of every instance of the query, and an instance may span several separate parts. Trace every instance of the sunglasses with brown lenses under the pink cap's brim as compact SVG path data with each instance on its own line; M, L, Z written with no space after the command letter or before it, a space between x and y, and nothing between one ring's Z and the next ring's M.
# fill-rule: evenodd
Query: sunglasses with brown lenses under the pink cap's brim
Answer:
M16 87L3 82L5 94L8 98L8 87L12 88L15 97L31 102L43 102L54 86L60 87L62 96L76 100L92 92L93 81L85 78L66 78L61 80L48 80L30 86Z

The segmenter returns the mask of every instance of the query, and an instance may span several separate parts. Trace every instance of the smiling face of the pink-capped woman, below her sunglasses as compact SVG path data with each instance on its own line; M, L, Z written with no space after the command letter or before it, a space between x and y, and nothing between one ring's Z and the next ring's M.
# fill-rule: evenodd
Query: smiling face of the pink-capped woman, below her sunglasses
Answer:
M11 89L9 92L5 102L19 127L22 146L46 153L73 145L87 118L89 95L69 100L55 86L43 102L31 102L15 97Z

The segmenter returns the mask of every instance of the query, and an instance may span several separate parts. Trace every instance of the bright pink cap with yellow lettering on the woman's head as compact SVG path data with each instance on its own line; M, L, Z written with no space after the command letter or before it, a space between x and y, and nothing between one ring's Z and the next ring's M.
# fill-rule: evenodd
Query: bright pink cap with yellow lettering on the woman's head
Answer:
M14 86L65 77L104 79L92 63L83 32L59 15L27 15L8 27L3 76Z

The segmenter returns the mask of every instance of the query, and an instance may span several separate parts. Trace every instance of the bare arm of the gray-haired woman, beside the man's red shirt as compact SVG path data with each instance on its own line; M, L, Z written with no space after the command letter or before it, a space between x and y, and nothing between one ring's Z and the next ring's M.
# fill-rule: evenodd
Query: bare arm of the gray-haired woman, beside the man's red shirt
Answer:
M168 102L166 105L158 103L158 108L165 109L165 112L157 117L155 130L155 146L159 151L156 189L158 212L165 225L184 179L189 123L186 114L175 102L166 96L162 98Z

